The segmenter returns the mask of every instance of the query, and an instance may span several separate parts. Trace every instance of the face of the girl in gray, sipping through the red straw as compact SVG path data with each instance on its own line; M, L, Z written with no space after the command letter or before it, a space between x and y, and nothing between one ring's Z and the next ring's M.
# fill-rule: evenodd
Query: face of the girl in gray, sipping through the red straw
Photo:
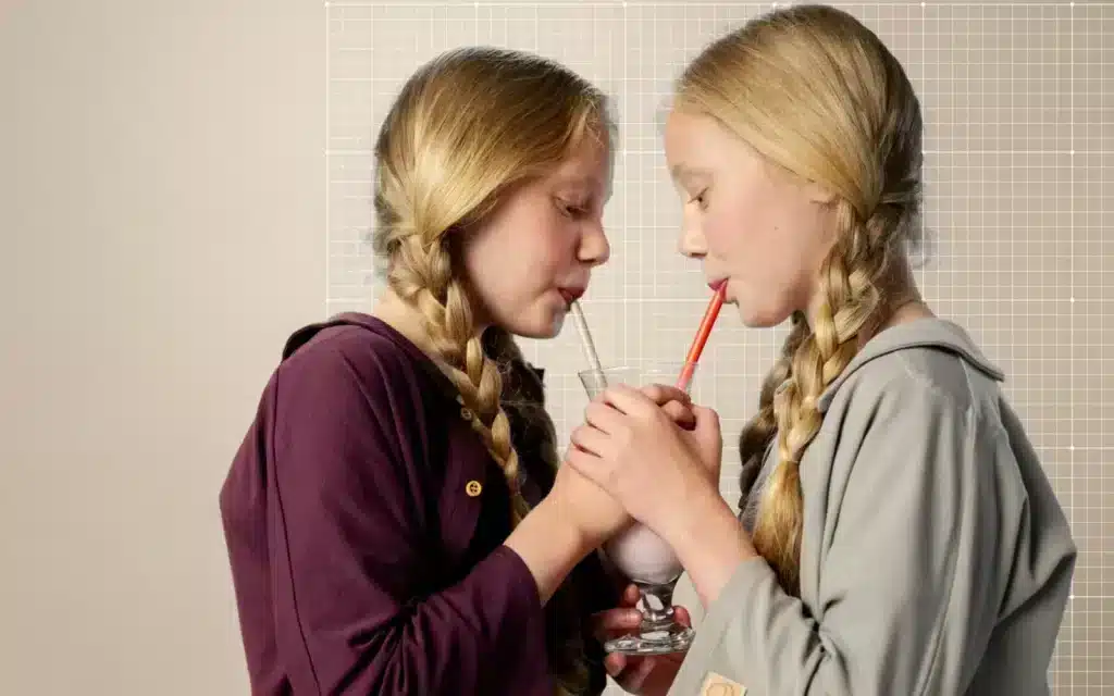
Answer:
M719 121L674 110L665 156L683 196L680 249L727 283L747 326L807 311L831 247L831 196L766 161Z

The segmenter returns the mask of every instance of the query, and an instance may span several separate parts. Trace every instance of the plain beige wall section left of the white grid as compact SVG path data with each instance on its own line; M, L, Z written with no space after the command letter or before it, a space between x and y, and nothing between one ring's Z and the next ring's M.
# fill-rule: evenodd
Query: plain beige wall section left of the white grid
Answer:
M216 492L323 311L323 8L0 8L0 694L246 694Z

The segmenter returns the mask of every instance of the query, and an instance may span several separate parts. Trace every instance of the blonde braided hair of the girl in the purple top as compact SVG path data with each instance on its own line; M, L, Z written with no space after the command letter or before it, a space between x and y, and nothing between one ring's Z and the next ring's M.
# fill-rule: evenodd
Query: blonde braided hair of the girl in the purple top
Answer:
M433 352L475 414L472 429L502 469L512 526L529 508L504 376L522 360L506 331L477 335L460 235L585 137L605 138L612 129L605 96L573 71L531 53L470 47L441 53L405 82L375 143L374 252L390 287L423 317ZM549 416L544 408L528 413L549 437L541 449L556 465ZM558 679L575 692L584 688L583 655L576 636L566 643L565 653L579 656L558 665Z

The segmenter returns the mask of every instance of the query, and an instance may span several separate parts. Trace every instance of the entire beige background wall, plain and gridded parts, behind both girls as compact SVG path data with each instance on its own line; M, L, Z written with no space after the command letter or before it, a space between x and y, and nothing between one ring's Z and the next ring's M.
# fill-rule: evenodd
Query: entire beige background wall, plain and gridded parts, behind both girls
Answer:
M1006 369L1083 549L1055 693L1110 693L1114 6L841 4L925 105L922 284ZM370 306L367 149L437 51L537 50L616 95L613 263L585 304L605 360L680 357L706 291L673 254L655 111L766 7L0 0L0 694L246 693L216 490L285 335ZM717 326L697 393L729 441L780 336ZM563 432L573 341L529 345Z

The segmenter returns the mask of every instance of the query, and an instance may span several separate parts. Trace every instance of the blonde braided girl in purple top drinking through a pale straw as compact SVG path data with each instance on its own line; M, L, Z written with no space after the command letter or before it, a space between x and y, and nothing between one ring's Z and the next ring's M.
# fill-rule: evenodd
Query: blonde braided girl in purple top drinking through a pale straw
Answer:
M385 291L290 337L221 492L253 694L604 688L590 619L619 596L592 551L631 518L557 470L514 336L555 336L607 261L614 130L529 53L450 51L403 86L375 143Z

